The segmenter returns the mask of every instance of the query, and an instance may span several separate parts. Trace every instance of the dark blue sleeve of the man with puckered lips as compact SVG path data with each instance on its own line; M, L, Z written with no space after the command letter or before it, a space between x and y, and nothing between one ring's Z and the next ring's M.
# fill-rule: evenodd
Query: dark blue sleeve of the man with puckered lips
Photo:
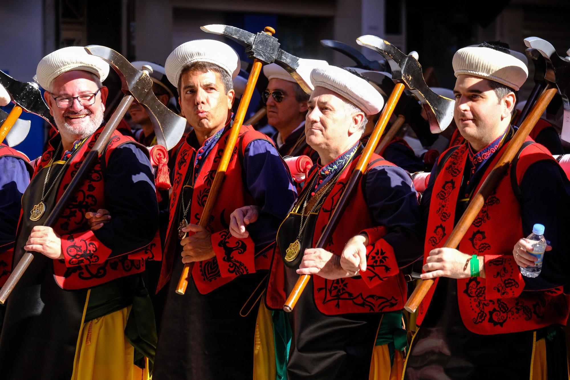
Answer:
M257 222L247 228L256 251L272 243L287 216L296 191L277 150L266 140L254 140L243 154L247 189L261 207Z

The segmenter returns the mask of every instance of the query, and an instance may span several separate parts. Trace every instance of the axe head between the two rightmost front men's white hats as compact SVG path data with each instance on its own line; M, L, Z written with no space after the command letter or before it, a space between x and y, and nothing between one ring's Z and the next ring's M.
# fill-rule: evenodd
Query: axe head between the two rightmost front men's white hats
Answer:
M431 91L424 80L422 67L412 55L405 55L393 44L373 35L364 35L356 39L361 46L366 46L380 53L392 69L392 80L403 83L420 100L427 115L431 133L445 130L453 120L454 100L439 96Z

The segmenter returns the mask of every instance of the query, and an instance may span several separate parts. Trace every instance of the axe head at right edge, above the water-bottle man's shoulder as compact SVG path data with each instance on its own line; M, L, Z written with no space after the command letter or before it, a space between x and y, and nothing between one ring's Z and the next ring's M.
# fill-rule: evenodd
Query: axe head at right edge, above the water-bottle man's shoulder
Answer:
M561 58L556 49L547 40L538 37L528 37L524 39L527 47L536 49L546 61L546 73L544 79L551 85L556 86L562 97L564 105L564 119L562 125L561 138L570 141L570 61Z

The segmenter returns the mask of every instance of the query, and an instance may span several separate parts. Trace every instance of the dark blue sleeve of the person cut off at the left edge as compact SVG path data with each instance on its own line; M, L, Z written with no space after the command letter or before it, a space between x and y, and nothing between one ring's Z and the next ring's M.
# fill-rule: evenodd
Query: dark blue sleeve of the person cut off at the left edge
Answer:
M30 183L30 174L23 160L0 157L0 252L11 246L18 227L22 195Z

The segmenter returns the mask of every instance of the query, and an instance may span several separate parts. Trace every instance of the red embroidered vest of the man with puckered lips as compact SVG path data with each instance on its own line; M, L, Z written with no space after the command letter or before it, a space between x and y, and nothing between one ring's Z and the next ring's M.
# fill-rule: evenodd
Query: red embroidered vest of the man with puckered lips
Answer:
M198 174L198 177L194 181L194 188L192 191L192 205L190 206L188 215L186 215L189 223L198 224L198 222L200 222L200 216L202 215L203 208L206 205L206 199L210 193L210 186L212 185L215 172L218 169L219 162L221 161L223 149L227 144L229 132L230 129L227 129L215 143L206 159L200 164L202 166L200 168L200 174ZM241 126L238 135L238 142L234 148L233 154L231 155L223 185L218 193L210 216L210 222L207 227L207 230L210 232L227 230L230 225L230 215L235 209L239 209L239 207L247 205L255 205L255 199L251 197L247 190L247 186L244 183L241 157L243 156L243 152L245 152L247 145L251 141L258 139L270 142L266 135L257 132L257 130L253 129L251 125ZM270 144L272 143L270 142ZM163 250L164 260L162 260L162 268L160 279L158 280L157 291L168 283L170 274L172 273L174 260L180 260L180 257L174 258L173 256L175 244L180 244L180 240L178 240L177 235L177 227L180 221L181 191L184 187L183 182L185 181L186 174L189 170L192 171L193 169L193 153L194 148L192 148L192 146L188 144L188 141L185 140L178 152L178 156L176 157L172 196L170 197L168 230L166 232L166 242ZM193 174L190 173L190 175ZM191 183L192 181L189 182ZM188 201L185 200L185 202ZM229 235L229 232L227 232L227 236L222 236L222 240L230 238L231 235ZM237 244L238 245L235 247L236 252L253 250L253 240L251 239L238 240ZM247 247L246 244L251 244L252 246ZM249 265L249 267L254 267L255 270L268 269L269 258L267 253L256 257L254 265ZM251 272L253 272L253 268L251 268ZM198 288L198 291L202 294L209 293L214 289L229 283L235 278L234 276L222 276L218 259L216 257L194 263L191 276ZM178 279L175 280L178 281Z

